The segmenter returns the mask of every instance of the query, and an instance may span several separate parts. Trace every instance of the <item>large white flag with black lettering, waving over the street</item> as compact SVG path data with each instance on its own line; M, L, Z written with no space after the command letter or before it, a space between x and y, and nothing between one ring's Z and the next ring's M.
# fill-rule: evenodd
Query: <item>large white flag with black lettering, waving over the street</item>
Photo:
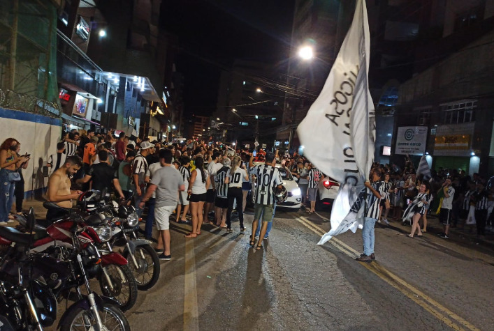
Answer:
M369 23L365 0L358 0L354 20L317 100L297 133L304 154L324 174L342 183L331 212L332 236L362 224L362 212L349 213L372 166L375 111L368 86Z

